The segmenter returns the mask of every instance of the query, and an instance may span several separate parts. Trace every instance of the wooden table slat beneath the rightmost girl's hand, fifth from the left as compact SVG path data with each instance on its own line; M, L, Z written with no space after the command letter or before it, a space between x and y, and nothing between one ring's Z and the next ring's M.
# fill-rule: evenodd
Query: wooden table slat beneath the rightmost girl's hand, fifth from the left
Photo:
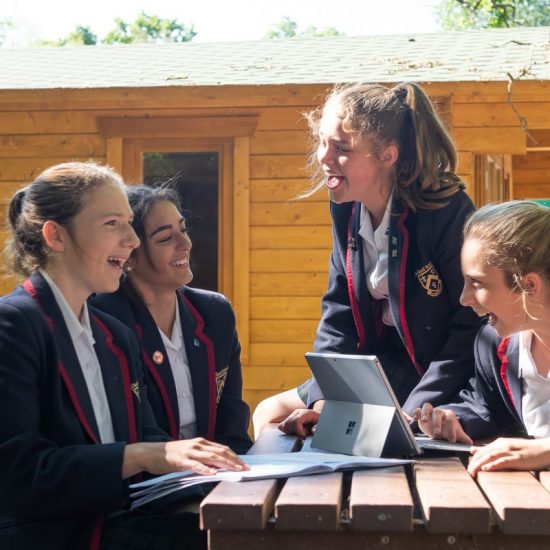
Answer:
M504 533L550 535L550 493L530 472L479 472L477 482Z

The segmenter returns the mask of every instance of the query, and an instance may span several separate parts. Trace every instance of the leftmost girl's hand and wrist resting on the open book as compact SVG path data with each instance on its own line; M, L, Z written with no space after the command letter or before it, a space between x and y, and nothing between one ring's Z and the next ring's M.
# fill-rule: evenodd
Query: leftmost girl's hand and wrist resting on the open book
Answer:
M167 443L126 445L122 477L126 479L143 471L168 474L182 470L212 475L220 468L233 471L249 469L229 447L196 437Z

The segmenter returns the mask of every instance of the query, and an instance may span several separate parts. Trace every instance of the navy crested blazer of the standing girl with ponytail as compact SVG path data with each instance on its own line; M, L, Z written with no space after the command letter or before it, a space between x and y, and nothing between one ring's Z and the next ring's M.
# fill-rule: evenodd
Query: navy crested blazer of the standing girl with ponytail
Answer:
M392 199L387 254L387 300L394 325L390 327L382 322L380 301L367 287L359 233L361 205L330 204L333 250L315 351L378 355L409 414L425 402L448 403L473 373L480 321L459 298L462 228L474 206L463 191L443 202L447 204L442 208L414 212L398 197ZM314 380L300 393L308 405L322 399Z

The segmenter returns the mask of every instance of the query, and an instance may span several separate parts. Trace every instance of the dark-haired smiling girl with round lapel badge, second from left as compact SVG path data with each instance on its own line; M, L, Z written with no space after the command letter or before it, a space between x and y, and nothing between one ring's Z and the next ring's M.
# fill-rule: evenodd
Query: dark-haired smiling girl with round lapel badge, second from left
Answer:
M127 188L132 227L141 240L120 289L92 303L138 336L149 400L174 439L197 435L245 453L252 442L242 399L235 315L216 292L186 286L191 240L176 193Z

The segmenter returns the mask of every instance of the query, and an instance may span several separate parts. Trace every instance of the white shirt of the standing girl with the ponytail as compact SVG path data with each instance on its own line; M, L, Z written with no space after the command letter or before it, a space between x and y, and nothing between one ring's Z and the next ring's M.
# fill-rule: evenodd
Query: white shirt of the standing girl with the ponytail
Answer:
M390 310L388 290L388 247L390 232L392 197L390 196L382 222L372 229L369 211L361 205L359 235L363 241L363 263L367 279L367 288L375 300L384 300L382 321L385 325L395 326Z

